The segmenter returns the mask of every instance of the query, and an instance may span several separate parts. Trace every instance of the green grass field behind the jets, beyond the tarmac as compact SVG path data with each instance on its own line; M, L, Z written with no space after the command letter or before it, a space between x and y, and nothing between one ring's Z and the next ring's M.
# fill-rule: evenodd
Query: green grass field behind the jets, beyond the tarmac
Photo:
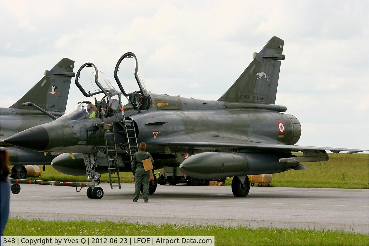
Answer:
M296 155L301 155L301 153L296 153ZM273 174L271 186L369 188L368 154L329 154L329 156L329 161L302 163L308 167L308 170L289 170ZM133 183L131 172L120 173L120 175L122 183ZM51 166L46 166L41 177L32 179L87 182L85 176L64 175L55 171ZM108 175L101 175L101 181L109 182ZM228 179L225 184L231 185L231 180Z

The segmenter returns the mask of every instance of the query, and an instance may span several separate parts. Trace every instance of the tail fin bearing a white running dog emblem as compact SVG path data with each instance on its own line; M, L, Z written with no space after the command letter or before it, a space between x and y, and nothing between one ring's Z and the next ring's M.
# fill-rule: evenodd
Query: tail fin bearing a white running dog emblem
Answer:
M272 37L218 101L275 104L284 41Z

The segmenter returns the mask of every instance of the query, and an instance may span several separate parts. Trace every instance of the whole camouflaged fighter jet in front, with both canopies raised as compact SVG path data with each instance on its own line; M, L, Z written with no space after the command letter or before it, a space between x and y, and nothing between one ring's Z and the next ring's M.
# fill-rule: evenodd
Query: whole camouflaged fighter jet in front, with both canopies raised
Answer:
M247 196L247 175L306 169L301 162L328 160L327 150L363 151L294 145L301 134L299 120L281 113L287 110L285 106L275 105L283 43L272 37L217 101L151 93L133 53L124 54L115 66L120 91L94 64L86 63L77 72L76 85L87 97L104 94L100 101L80 102L54 122L5 141L31 150L66 153L56 157L52 166L70 175L86 173L92 179L87 190L90 198L103 196L97 186L99 173L108 172L111 188L112 180L120 187L118 169L130 171L132 154L141 141L147 144L155 169L176 165L175 154L190 153L192 156L179 166L186 174L200 179L234 176L232 192L236 197ZM139 87L131 93L125 91L118 76L121 62L128 58L134 58ZM81 71L86 69L93 70L88 76L98 87L93 92L86 92L80 83ZM296 157L292 151L303 155ZM155 189L154 180L149 193Z

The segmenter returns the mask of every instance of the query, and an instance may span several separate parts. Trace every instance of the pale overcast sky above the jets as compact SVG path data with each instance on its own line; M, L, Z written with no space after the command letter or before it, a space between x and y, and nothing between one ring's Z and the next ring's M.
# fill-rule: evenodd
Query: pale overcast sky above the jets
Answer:
M152 92L217 100L278 36L286 60L276 104L300 120L297 144L369 148L367 0L0 3L1 107L63 57L75 72L92 62L113 82L128 51ZM74 80L67 110L87 100Z

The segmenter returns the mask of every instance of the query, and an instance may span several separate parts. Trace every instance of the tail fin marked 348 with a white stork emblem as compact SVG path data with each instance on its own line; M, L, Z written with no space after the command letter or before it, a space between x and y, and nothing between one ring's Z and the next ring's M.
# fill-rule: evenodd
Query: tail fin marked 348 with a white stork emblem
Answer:
M22 103L33 102L46 111L65 112L71 77L75 76L73 68L74 61L63 58L50 71L45 70L44 77L9 108L31 109Z

